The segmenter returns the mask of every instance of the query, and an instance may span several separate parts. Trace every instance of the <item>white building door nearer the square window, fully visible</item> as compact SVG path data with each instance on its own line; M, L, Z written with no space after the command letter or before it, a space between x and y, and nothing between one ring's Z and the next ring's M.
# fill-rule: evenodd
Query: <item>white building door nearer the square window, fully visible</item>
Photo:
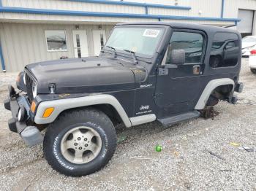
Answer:
M75 58L89 56L87 34L85 30L73 31L73 42L75 50Z

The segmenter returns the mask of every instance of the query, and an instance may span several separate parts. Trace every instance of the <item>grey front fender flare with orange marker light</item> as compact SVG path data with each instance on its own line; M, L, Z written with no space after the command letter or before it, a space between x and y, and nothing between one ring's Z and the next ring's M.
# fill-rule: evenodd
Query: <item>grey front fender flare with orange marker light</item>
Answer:
M123 120L124 125L126 125L127 128L132 126L132 123L129 120L127 113L124 111L124 108L121 106L119 101L113 95L109 94L88 95L79 98L66 98L53 101L43 101L37 107L37 113L34 117L34 122L37 124L47 124L56 120L56 117L58 117L59 114L64 110L74 109L81 106L94 106L98 104L110 104L116 109L121 117L121 120ZM49 107L54 108L53 113L50 114L49 117L43 118L42 116L45 112L45 109Z

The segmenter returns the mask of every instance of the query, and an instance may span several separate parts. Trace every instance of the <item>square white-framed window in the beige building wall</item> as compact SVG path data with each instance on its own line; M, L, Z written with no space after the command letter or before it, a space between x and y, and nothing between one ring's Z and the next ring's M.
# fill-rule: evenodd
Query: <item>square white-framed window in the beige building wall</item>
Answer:
M45 31L45 38L49 52L67 51L66 31Z

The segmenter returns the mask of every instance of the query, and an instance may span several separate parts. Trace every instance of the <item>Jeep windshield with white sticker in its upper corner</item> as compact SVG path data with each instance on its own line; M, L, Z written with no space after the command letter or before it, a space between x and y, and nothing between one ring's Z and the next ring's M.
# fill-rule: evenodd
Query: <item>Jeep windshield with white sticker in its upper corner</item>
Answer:
M151 56L163 32L163 28L118 27L113 30L106 46Z

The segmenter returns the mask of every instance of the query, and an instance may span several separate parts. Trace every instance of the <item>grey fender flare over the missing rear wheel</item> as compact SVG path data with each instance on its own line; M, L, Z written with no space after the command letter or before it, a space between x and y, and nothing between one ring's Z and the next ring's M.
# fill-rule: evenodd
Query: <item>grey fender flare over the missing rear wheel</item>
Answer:
M235 82L230 78L221 78L221 79L213 79L206 85L203 93L201 94L197 104L195 106L196 110L204 109L207 104L208 98L210 97L212 91L221 85L233 85L233 90L235 87ZM233 92L232 90L232 92Z

